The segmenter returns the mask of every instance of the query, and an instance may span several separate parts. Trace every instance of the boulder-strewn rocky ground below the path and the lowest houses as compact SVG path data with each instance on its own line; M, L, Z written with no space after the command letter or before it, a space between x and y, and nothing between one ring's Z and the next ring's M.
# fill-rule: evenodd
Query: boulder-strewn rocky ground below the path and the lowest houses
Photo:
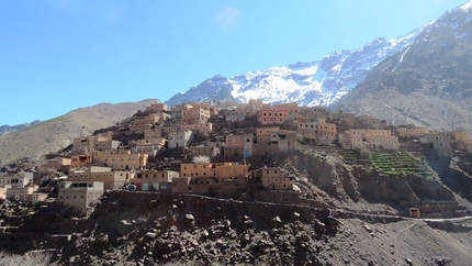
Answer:
M18 209L19 207L16 207ZM12 208L10 208L13 210ZM55 203L4 228L1 248L64 265L468 265L472 220L113 191L89 215ZM3 224L11 221L3 217ZM27 233L26 233L27 232Z

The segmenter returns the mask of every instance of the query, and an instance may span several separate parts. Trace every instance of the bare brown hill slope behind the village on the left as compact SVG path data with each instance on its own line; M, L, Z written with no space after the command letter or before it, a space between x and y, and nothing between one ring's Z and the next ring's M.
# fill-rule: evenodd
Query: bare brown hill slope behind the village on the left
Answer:
M74 137L88 136L95 130L132 117L137 110L144 110L151 102L156 100L100 103L0 135L0 165L25 157L36 160L43 154L67 147Z

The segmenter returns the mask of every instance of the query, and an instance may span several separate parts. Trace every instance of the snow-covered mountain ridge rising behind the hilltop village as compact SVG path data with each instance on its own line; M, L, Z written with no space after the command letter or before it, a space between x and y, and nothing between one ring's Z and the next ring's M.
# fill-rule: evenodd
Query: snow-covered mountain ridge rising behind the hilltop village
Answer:
M318 62L270 67L232 78L216 75L166 103L262 99L270 103L329 106L361 82L380 62L409 45L420 31L397 38L377 38L357 51L334 52Z

